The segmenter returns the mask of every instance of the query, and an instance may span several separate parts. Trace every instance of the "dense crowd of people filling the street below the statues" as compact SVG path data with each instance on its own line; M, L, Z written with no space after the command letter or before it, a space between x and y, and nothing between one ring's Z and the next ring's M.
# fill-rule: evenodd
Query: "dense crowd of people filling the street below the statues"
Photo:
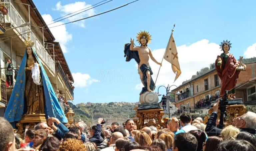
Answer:
M90 128L83 122L67 128L51 117L47 124L26 126L22 138L0 117L0 151L256 151L256 113L247 112L223 127L217 119L218 105L219 101L207 124L185 111L179 119L169 118L166 128L149 126L140 131L132 119L124 126L113 122L104 130L101 118Z

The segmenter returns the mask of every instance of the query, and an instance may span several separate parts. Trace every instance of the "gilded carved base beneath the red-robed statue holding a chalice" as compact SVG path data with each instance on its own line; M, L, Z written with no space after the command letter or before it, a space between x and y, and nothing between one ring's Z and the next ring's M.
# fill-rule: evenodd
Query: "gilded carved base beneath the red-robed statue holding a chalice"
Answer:
M213 108L210 108L208 113L211 115L213 111ZM246 107L243 104L239 105L227 105L226 113L228 114L228 118L225 118L225 122L227 122L228 125L232 124L232 121L235 117L241 116L245 113ZM218 111L218 118L220 118L220 110Z

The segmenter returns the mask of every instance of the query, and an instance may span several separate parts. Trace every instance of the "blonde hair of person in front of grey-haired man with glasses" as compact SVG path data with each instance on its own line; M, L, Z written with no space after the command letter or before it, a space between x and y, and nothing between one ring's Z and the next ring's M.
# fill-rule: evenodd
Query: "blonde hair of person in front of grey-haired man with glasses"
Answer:
M239 132L240 130L238 128L234 126L227 126L221 131L220 137L222 137L223 140L235 140L235 135Z

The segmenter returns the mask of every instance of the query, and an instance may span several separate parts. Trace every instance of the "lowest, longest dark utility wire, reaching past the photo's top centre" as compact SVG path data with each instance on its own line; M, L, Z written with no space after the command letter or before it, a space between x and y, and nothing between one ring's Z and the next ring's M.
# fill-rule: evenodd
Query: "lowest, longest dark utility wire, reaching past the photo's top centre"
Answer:
M122 5L122 6L116 7L116 8L114 8L114 9L111 9L111 10L108 10L108 11L105 11L105 12L102 12L102 13L99 13L99 14L96 14L96 15L93 15L93 16L85 17L85 18L82 18L82 19L78 19L78 20L75 20L75 21L72 21L72 22L64 23L64 24L61 24L61 25L53 26L53 27L58 27L58 26L62 26L62 25L66 25L66 24L70 24L70 23L74 23L74 22L78 22L78 21L81 21L81 20L85 20L85 19L88 19L88 18L91 18L91 17L99 16L99 15L102 15L102 14L105 14L105 13L108 13L108 12L111 12L111 11L114 11L114 10L116 10L116 9L122 8L122 7L124 7L124 6L127 6L127 5L129 5L129 4L131 4L131 3L134 3L134 2L137 2L137 1L139 1L139 0L132 1L132 2L130 2L130 3L124 4L124 5ZM53 27L50 27L50 28L53 28ZM50 28L48 27L48 28L45 28L45 29L50 29ZM34 31L39 31L39 30L41 30L41 29L35 29L35 30L31 30L31 31L26 32L26 33L18 34L17 36L13 36L13 37L10 36L10 37L5 37L5 38L8 38L8 39L6 39L6 40L9 40L9 39L13 39L13 38L19 37L19 36L21 36L21 35L23 35L23 34L28 34L28 33L31 33L31 32L34 32ZM4 42L4 41L6 41L6 40L1 41L0 43Z

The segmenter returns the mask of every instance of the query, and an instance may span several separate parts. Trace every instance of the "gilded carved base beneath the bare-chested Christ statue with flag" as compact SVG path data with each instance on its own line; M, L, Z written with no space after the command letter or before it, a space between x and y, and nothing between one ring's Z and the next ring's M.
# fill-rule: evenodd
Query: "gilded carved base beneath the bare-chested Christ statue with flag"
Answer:
M157 128L166 127L166 121L168 118L163 118L164 115L163 109L146 109L146 110L137 110L136 116L139 118L139 120L134 120L135 124L137 125L137 129L142 129L146 126L155 126ZM153 123L145 123L144 121L146 119L155 119L156 124Z

